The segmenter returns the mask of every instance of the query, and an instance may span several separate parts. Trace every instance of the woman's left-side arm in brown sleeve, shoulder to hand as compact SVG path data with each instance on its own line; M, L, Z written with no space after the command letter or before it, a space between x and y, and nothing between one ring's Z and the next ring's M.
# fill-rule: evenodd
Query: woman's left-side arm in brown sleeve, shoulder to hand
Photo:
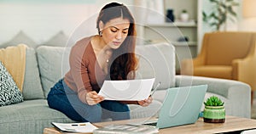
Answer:
M87 59L83 59L88 42L82 41L77 42L78 44L71 50L69 57L70 72L77 87L79 99L83 103L93 105L101 102L103 98L92 91L88 71L89 62Z

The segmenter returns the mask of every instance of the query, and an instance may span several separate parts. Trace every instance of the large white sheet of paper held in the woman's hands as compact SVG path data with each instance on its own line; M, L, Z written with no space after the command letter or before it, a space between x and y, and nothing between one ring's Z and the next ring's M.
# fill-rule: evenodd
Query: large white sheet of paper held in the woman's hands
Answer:
M104 81L98 93L105 100L143 100L150 96L154 78L125 81Z

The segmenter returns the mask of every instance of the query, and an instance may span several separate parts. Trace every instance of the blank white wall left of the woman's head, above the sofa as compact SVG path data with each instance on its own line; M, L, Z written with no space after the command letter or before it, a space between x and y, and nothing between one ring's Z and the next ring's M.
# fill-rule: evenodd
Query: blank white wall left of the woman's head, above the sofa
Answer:
M59 31L71 36L78 27L81 34L96 33L96 16L111 0L1 0L0 44L23 31L37 43L46 42ZM116 2L132 5L133 1ZM87 23L84 25L83 23ZM82 36L82 35L81 35Z

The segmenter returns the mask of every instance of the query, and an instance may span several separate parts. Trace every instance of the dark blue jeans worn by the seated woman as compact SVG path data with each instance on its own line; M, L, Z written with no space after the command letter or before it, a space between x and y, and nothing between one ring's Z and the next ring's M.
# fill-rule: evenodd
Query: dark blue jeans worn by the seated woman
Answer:
M79 122L100 122L107 118L112 120L130 119L130 110L127 104L108 100L95 105L82 103L78 94L67 87L63 79L50 88L47 101L49 108L59 110L71 120Z

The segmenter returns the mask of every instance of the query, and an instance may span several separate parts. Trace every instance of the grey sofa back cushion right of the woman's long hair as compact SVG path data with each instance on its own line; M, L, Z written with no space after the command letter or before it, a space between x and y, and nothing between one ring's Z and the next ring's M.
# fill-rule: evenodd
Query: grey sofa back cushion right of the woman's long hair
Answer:
M175 87L175 49L172 45L165 42L138 45L136 54L139 59L137 79L155 77L155 85L161 82L159 89Z

